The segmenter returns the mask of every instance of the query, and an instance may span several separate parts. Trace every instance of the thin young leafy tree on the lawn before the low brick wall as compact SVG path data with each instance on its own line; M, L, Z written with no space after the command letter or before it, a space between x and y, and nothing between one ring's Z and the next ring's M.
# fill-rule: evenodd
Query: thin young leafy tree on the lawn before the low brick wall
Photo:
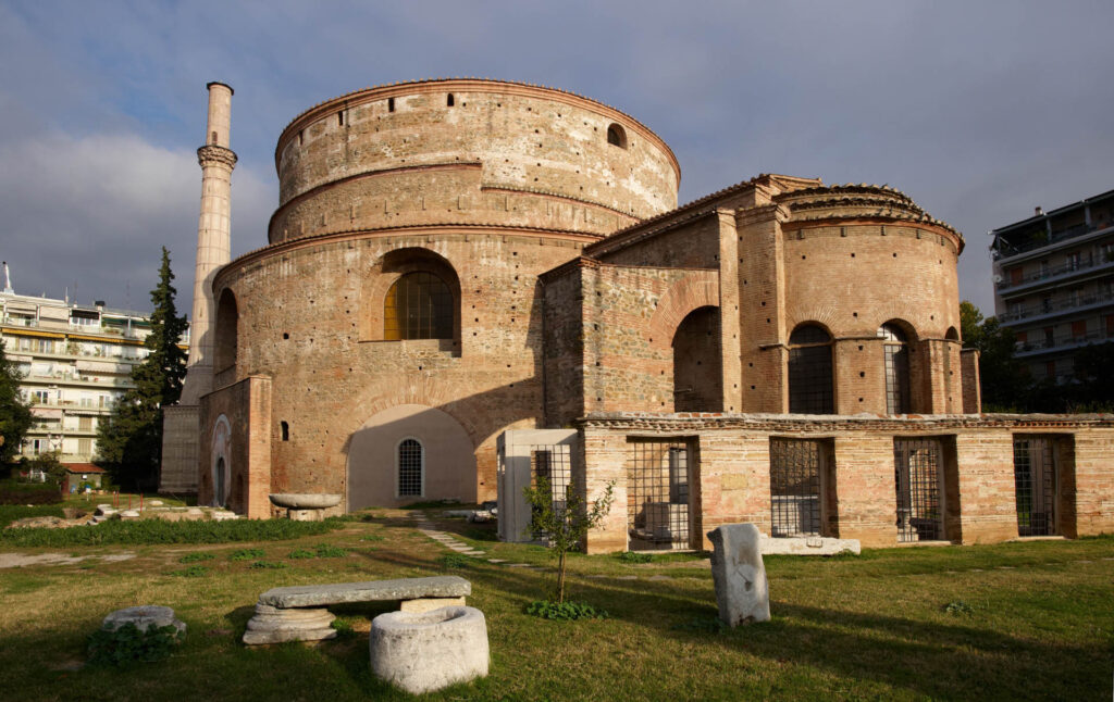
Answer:
M554 500L549 478L543 476L524 491L530 505L530 532L547 540L557 555L557 604L565 602L565 555L604 521L612 510L614 491L615 484L608 483L590 505L571 483L565 486L564 502Z

